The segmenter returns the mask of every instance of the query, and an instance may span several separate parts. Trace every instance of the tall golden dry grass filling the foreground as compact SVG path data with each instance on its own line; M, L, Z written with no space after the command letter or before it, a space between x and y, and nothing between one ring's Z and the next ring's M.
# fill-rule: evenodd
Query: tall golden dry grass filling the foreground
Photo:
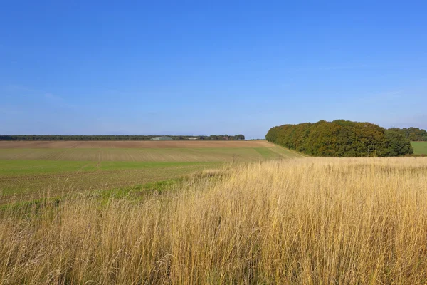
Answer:
M426 158L260 162L176 190L4 209L0 282L427 282Z

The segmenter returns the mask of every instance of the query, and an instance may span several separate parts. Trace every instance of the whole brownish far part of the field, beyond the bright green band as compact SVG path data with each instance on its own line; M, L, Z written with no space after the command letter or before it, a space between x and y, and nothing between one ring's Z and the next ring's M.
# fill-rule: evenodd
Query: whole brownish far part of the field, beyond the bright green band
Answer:
M302 155L265 140L0 141L0 160L232 162L273 157L290 158Z

